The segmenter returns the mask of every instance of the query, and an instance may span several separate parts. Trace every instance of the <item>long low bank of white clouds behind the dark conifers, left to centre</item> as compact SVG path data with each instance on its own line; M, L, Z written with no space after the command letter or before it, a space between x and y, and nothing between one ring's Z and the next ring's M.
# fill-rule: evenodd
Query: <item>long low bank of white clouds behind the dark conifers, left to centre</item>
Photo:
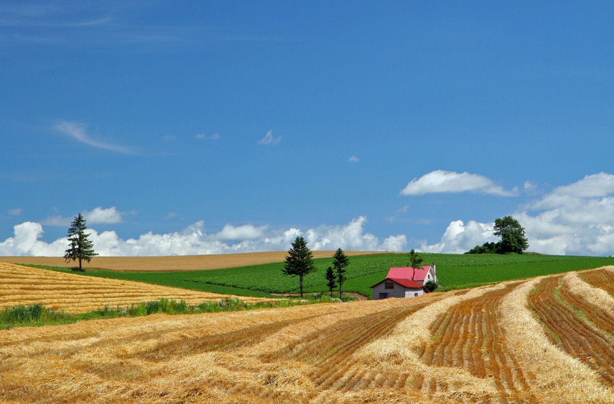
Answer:
M402 251L405 235L389 236L379 240L366 233L363 216L344 225L322 225L308 230L298 228L269 230L266 226L225 225L217 233L206 233L204 221L196 222L184 230L155 234L151 231L138 238L122 239L115 231L98 233L93 228L90 239L101 256L131 257L148 255L201 255L233 252L284 251L302 235L313 250ZM68 246L66 238L53 243L39 240L43 234L41 223L25 222L15 226L15 236L0 243L0 255L6 256L61 256Z

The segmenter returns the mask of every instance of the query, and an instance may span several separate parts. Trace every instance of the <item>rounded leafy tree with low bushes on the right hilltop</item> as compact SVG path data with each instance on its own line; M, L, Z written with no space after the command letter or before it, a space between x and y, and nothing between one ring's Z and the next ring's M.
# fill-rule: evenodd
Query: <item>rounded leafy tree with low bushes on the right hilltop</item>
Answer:
M523 254L523 251L529 248L524 227L511 216L495 219L493 234L500 237L501 241L475 246L465 254Z

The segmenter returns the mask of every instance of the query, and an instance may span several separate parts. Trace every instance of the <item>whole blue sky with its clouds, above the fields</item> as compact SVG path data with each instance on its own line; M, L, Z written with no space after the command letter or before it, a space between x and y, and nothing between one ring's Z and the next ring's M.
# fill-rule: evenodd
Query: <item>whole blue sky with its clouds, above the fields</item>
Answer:
M0 4L0 255L614 254L610 2Z

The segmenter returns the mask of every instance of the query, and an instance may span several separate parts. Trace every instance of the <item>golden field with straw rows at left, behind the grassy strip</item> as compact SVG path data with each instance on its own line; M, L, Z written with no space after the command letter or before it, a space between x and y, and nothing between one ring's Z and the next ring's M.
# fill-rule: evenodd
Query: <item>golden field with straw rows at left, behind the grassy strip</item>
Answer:
M126 306L161 297L194 305L220 300L225 295L0 263L0 309L41 303L49 309L86 313L105 305ZM241 300L254 303L263 299L241 297Z

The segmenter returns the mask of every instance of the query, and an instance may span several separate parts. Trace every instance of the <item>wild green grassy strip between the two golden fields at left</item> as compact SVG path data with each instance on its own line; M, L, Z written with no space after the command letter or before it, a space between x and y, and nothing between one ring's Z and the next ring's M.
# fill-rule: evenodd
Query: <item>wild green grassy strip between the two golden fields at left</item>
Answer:
M353 300L353 299L349 299ZM160 298L160 300L141 301L129 306L117 306L111 308L104 306L99 310L89 311L88 313L69 314L64 310L48 309L41 303L34 303L29 306L12 306L0 311L0 330L12 327L26 327L56 324L72 324L80 320L112 319L117 317L140 317L150 314L197 314L197 313L217 313L219 311L238 311L253 310L263 308L291 307L299 305L309 305L313 303L340 302L341 300L330 298L323 293L316 295L306 295L305 298L283 298L271 303L248 304L238 298L223 298L219 301L204 301L198 305L188 306L185 300L176 301L174 299Z

